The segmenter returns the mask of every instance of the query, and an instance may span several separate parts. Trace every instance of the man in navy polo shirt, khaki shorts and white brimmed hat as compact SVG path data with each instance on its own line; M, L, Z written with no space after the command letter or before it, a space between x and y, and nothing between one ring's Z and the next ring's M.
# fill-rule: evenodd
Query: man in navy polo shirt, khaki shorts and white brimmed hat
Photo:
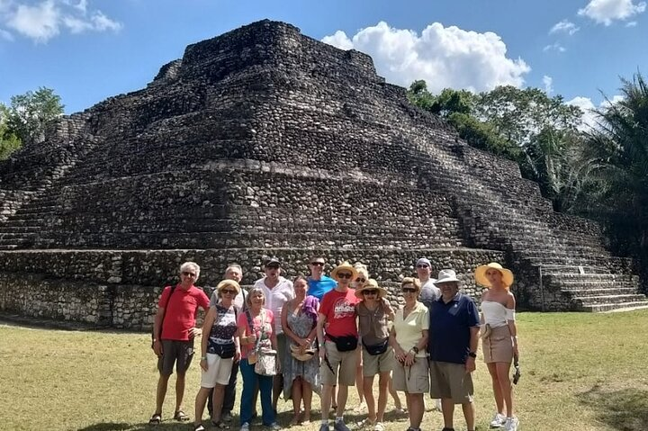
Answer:
M441 399L443 431L454 431L455 404L461 404L468 431L475 429L473 376L479 341L479 311L459 293L455 271L439 272L441 298L429 302L430 396Z

